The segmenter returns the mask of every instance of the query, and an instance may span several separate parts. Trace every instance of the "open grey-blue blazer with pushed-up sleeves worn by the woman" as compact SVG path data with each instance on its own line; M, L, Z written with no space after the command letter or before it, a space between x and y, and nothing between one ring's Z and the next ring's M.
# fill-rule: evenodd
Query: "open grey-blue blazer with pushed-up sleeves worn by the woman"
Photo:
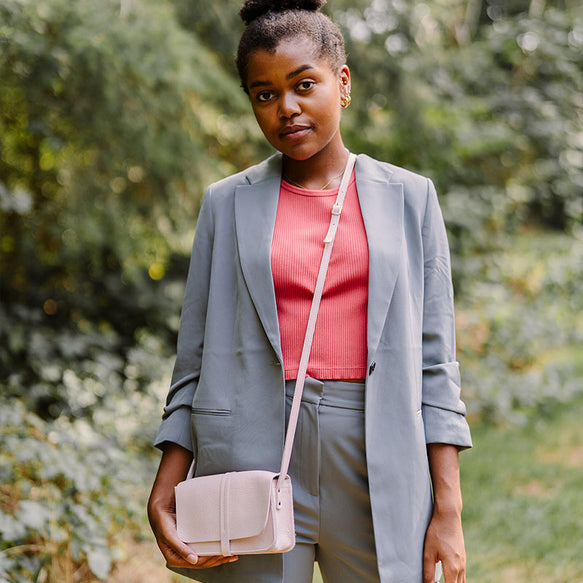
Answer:
M471 447L460 400L449 249L430 180L359 155L369 245L366 457L382 582L420 583L432 497L426 444ZM270 251L281 155L211 185L192 251L172 386L156 444L193 450L196 474L279 469L284 374ZM341 223L342 224L342 223ZM280 555L201 581L278 580Z

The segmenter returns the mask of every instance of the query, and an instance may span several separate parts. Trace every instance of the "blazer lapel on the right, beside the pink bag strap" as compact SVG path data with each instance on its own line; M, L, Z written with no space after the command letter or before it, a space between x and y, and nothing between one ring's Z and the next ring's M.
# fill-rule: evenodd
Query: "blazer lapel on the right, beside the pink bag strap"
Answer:
M403 185L390 181L392 172L367 156L356 164L356 186L369 253L367 345L369 360L376 351L399 269L403 239Z

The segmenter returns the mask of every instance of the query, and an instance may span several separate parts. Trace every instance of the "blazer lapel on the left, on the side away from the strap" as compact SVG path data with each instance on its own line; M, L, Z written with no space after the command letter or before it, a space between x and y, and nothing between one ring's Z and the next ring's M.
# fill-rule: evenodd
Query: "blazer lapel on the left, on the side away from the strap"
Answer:
M271 242L279 200L281 156L251 169L249 184L235 191L235 229L241 269L255 309L278 358L282 359Z

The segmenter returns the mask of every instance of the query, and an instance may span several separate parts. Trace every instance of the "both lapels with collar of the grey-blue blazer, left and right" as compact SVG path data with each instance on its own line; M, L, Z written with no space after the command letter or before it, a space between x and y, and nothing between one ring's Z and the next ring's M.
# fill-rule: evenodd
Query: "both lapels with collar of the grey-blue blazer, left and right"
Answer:
M359 155L356 185L369 245L367 343L376 351L397 280L403 226L403 185L391 182L385 164ZM235 191L235 229L239 260L249 293L277 357L281 344L271 271L271 242L279 200L281 154L245 173ZM341 223L342 224L342 223Z

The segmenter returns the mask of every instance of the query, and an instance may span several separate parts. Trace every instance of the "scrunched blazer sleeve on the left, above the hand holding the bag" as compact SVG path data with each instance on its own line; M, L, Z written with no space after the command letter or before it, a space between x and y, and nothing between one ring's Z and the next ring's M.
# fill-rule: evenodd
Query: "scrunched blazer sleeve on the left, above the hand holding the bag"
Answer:
M161 449L165 442L173 442L192 451L190 414L202 363L213 234L209 187L203 198L196 223L171 386L166 398L162 422L154 440L154 445Z

